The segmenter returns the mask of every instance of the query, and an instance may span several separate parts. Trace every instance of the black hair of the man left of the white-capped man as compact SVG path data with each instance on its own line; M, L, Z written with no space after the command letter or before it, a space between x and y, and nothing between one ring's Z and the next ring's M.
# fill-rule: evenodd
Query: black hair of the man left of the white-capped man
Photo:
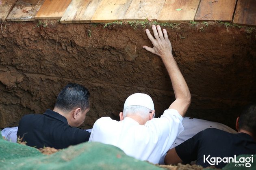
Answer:
M64 87L55 103L55 107L63 111L71 111L74 108L81 108L85 111L89 108L90 93L87 88L76 83L69 83Z

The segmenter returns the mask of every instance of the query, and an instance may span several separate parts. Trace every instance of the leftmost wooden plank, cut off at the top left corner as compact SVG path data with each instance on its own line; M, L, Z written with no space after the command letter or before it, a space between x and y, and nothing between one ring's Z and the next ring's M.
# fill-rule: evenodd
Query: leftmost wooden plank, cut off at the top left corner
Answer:
M0 0L0 21L4 21L17 0Z

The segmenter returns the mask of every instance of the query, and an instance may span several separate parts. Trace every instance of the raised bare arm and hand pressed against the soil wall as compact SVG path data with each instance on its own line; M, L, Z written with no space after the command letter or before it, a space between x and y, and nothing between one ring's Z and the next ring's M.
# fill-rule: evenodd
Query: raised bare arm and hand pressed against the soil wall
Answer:
M176 109L181 116L184 116L191 103L189 87L187 86L176 61L171 54L171 42L168 38L167 31L163 29L162 32L161 27L155 25L152 26L152 30L155 38L151 35L148 29L146 29L146 34L154 47L150 48L148 46L143 46L143 48L158 55L163 60L165 68L167 69L171 79L171 84L176 98L176 100L171 103L169 109Z

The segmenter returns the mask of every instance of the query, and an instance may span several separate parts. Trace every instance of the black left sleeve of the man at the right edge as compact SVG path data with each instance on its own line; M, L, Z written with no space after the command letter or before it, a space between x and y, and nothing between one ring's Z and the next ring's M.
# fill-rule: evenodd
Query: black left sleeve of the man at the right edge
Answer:
M176 153L184 164L189 164L197 159L198 147L203 131L175 147Z

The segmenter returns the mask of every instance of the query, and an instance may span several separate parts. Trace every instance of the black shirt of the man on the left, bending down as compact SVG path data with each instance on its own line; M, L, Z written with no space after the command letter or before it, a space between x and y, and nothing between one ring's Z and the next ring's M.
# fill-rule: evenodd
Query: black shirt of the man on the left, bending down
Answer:
M63 149L70 145L89 140L90 132L71 127L67 119L57 112L47 109L42 114L30 114L22 117L19 123L17 136L23 137L30 147L54 147Z

